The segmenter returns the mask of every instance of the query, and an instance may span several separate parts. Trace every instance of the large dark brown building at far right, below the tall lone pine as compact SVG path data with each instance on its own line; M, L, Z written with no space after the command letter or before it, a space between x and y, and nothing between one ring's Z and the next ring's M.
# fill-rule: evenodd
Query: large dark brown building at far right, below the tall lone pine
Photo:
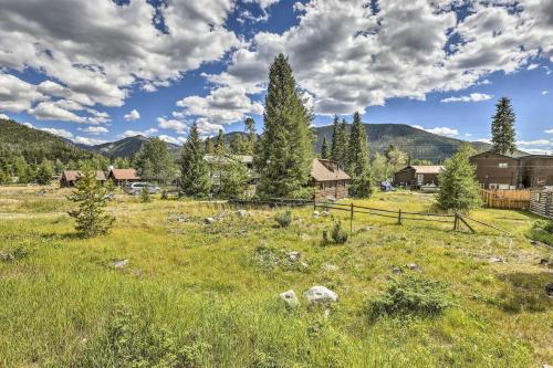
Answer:
M484 189L519 189L553 186L553 156L501 155L492 151L474 155L470 162Z

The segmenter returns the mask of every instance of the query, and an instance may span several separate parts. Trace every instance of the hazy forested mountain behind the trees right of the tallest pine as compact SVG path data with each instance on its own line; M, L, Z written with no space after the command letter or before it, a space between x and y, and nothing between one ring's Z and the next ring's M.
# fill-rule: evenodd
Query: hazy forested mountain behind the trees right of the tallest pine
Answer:
M365 128L372 151L384 153L393 144L410 154L411 158L432 162L442 162L451 157L463 143L460 139L439 136L404 124L365 124ZM326 137L328 145L332 141L332 125L315 128L317 153L321 150L323 137ZM472 143L472 146L478 153L491 148L491 145L480 141Z

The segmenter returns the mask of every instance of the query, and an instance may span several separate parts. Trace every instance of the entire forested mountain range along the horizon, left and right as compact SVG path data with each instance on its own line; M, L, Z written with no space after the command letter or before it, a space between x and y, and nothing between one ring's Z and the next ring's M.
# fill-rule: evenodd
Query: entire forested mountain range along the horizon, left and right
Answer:
M351 126L348 126L349 128ZM414 159L424 159L431 162L442 162L451 157L463 143L460 139L439 136L422 129L403 124L365 124L371 150L383 153L389 145L395 145L406 151ZM321 150L323 138L328 145L332 141L333 126L321 126L314 128L316 136L315 150ZM243 134L232 132L226 135L231 140L236 135ZM134 136L123 138L113 143L96 146L77 145L69 139L54 136L50 133L23 126L13 120L0 119L0 144L3 149L14 153L23 153L32 158L48 153L46 158L65 159L85 158L91 154L100 154L109 158L129 157L140 150L149 138ZM179 146L168 144L169 148L177 153ZM472 146L478 153L490 149L486 143L474 141Z

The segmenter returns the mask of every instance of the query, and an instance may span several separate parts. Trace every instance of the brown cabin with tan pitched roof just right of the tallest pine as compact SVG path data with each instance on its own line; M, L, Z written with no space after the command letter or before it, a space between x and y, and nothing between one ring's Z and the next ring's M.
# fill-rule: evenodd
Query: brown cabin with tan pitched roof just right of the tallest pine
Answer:
M315 189L315 201L343 199L347 197L347 186L352 178L338 162L327 159L314 159L311 168L311 181Z

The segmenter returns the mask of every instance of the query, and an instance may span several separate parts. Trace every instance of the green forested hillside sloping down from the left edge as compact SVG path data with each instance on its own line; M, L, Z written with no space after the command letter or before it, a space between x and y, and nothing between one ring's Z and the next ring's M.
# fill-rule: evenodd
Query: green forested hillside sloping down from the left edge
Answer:
M33 164L44 158L67 162L92 157L91 153L67 139L13 120L0 119L0 158L14 155L22 155L28 162Z

